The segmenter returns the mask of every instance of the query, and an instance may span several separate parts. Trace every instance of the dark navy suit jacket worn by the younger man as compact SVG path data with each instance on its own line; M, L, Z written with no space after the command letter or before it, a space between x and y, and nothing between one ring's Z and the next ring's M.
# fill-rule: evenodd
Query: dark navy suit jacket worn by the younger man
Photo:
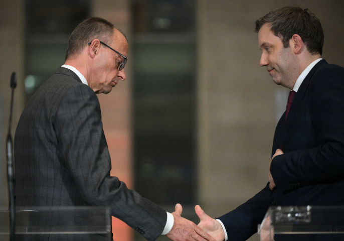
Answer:
M319 61L295 94L286 122L277 124L269 183L219 219L228 240L257 232L270 205L344 205L344 68ZM277 239L276 239L277 240Z

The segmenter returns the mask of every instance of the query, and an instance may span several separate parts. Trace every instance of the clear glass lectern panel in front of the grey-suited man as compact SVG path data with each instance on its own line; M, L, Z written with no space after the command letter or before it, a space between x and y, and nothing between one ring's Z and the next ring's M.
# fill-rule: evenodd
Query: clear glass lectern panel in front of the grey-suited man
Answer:
M0 209L0 235L9 234L10 211ZM16 234L100 233L111 237L107 207L16 207Z

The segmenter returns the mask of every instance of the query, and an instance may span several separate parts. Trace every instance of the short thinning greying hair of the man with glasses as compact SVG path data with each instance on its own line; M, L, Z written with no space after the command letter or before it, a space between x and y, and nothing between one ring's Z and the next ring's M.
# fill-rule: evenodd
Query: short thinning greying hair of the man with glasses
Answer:
M81 54L87 43L94 39L110 44L114 28L113 24L105 19L97 17L86 19L74 29L69 37L66 60L69 56Z

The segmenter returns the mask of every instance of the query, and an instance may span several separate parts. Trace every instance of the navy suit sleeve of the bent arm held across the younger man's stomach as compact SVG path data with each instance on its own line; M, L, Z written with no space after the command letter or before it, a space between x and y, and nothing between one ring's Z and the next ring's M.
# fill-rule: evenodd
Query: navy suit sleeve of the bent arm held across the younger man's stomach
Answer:
M285 191L290 183L305 186L344 178L344 70L319 69L309 85L311 125L320 145L276 156L271 174Z

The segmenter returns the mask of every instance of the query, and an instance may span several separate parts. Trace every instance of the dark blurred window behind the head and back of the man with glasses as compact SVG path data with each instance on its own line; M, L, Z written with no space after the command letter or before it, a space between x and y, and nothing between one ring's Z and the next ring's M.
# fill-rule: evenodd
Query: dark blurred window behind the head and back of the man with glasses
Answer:
M26 0L27 100L65 62L68 38L90 16L90 0Z

